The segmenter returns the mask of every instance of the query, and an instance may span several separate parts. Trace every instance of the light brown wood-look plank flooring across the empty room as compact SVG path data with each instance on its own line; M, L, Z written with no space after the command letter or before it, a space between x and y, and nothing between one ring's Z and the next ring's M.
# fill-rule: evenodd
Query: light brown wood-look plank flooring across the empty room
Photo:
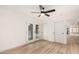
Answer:
M70 37L68 44L39 40L31 44L2 52L2 54L77 54L79 37Z

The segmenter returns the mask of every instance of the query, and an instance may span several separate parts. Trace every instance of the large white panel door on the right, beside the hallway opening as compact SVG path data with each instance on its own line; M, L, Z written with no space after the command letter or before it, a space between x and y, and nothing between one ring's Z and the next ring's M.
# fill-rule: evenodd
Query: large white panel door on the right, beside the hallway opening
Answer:
M66 27L63 21L54 23L54 32L55 42L66 43Z

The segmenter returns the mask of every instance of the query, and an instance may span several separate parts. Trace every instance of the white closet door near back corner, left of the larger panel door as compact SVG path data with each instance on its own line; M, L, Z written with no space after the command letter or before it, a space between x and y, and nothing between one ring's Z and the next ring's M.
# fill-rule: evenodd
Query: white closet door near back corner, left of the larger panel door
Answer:
M54 41L54 28L53 24L45 23L43 27L43 38L48 41Z

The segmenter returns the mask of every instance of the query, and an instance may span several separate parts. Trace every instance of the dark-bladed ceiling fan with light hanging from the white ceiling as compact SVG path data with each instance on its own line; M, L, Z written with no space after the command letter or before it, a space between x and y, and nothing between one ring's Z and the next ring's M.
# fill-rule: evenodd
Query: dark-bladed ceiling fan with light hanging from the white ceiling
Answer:
M48 13L55 12L55 9L46 11L42 5L39 5L39 8L40 8L40 12L32 12L32 13L39 13L38 17L40 17L41 15L45 15L49 17L50 15Z

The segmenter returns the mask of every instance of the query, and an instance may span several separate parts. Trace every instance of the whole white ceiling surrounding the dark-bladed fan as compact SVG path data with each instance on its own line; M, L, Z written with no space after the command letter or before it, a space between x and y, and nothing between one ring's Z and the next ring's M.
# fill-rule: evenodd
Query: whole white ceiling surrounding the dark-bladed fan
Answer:
M38 5L15 5L15 6L0 6L5 10L12 10L17 13L24 14L25 16L31 16L36 19L46 20L59 20L64 19L67 21L69 25L79 25L79 6L74 5L43 5L45 10L56 9L55 12L49 13L51 16L41 16L38 17L39 14L31 13L33 11L40 11Z

